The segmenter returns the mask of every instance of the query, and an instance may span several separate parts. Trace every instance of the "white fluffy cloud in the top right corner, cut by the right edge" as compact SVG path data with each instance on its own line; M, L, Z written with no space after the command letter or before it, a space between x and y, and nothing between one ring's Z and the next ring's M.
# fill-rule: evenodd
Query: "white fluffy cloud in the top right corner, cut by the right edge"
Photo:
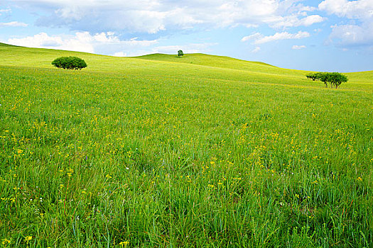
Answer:
M325 0L319 9L339 17L357 20L357 24L332 26L329 43L336 42L342 47L372 46L373 43L373 1L372 0Z

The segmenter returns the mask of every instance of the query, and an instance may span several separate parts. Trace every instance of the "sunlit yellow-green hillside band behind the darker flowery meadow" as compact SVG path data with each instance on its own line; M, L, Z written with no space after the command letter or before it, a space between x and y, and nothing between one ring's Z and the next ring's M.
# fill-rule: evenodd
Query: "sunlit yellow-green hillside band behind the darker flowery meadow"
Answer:
M0 65L50 68L50 62L55 57L78 56L82 57L89 67L87 72L125 72L126 74L139 74L146 69L148 75L163 74L173 77L182 74L184 77L200 79L223 79L246 81L254 83L281 84L283 86L319 86L310 84L304 75L308 72L273 67L261 62L247 62L229 57L192 54L184 57L175 55L146 55L141 57L109 57L92 55L85 52L70 52L63 50L46 50L28 47L0 46ZM164 73L160 72L163 71ZM372 72L358 72L347 74L351 84L345 84L343 89L369 90L367 84L373 83Z

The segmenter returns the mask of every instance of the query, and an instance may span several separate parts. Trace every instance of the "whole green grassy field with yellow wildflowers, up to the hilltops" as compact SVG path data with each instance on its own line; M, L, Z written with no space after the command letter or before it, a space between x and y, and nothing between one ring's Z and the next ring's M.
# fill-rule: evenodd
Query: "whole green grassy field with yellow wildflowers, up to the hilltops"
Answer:
M0 247L372 247L373 71L307 73L0 43Z

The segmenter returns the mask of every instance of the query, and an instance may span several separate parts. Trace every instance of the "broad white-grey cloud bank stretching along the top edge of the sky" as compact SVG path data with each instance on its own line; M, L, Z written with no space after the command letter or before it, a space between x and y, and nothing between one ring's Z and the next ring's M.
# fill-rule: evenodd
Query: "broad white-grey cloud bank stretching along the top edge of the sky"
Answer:
M159 33L163 30L195 26L257 26L276 28L310 26L321 16L304 16L313 11L299 0L13 0L21 8L48 10L40 26L67 26L72 30L101 32L125 30L133 33Z

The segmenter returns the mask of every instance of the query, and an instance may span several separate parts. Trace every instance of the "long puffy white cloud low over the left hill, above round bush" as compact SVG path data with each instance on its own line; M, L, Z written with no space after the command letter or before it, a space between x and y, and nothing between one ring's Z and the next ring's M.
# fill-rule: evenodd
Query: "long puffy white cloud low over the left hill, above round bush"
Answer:
M111 47L112 50L123 50L147 47L158 43L157 40L119 40L114 33L97 33L91 35L88 32L78 32L75 35L53 35L39 33L26 38L9 39L11 45L22 45L28 47L52 48L59 50L72 50L78 52L99 52L99 48Z

